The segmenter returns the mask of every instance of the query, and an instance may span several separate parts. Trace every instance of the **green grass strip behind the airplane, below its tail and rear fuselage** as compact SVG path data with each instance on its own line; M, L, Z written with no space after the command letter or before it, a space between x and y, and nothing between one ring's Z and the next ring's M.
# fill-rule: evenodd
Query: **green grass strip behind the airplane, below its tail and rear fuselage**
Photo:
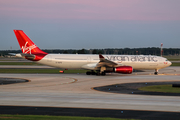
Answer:
M7 68L7 69L0 69L0 73L48 73L48 74L57 74L59 73L60 69L21 69L21 68ZM64 70L65 74L68 73L86 73L87 70ZM60 73L59 73L60 74ZM62 74L62 73L61 73Z

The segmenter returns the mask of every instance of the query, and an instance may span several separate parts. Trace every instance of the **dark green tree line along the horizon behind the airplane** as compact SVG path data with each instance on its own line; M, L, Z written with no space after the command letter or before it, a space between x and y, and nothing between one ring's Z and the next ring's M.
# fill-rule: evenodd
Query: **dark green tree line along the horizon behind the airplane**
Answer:
M59 54L118 54L118 55L158 55L160 56L160 48L107 48L107 49L44 49L47 53ZM8 53L22 53L21 50L0 50L1 56ZM163 48L163 55L180 55L180 48Z

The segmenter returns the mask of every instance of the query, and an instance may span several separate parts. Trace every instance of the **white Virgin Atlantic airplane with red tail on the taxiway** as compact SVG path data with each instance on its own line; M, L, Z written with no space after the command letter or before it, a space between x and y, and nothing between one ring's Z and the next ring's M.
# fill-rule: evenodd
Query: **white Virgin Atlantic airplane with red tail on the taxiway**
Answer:
M48 54L37 47L22 31L14 30L22 53L15 54L40 64L61 69L87 69L87 75L106 73L131 74L135 70L158 70L172 63L164 57L151 55L92 55L92 54Z

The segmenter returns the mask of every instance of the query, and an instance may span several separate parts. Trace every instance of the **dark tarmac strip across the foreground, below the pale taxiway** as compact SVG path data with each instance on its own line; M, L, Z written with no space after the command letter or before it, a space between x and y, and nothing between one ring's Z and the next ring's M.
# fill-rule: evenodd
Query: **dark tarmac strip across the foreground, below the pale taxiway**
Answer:
M138 120L179 120L178 112L65 108L65 107L32 107L32 106L0 106L1 114L19 115L55 115L55 116L83 116L109 117ZM92 118L91 118L92 119Z

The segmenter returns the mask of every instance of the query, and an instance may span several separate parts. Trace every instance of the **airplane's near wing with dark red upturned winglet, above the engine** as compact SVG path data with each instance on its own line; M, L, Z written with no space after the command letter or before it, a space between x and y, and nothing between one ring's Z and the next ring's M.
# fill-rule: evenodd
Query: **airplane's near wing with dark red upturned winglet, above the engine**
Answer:
M96 68L100 67L118 67L118 66L123 66L123 64L117 64L113 61L105 59L101 54L99 54L99 63L96 65Z

